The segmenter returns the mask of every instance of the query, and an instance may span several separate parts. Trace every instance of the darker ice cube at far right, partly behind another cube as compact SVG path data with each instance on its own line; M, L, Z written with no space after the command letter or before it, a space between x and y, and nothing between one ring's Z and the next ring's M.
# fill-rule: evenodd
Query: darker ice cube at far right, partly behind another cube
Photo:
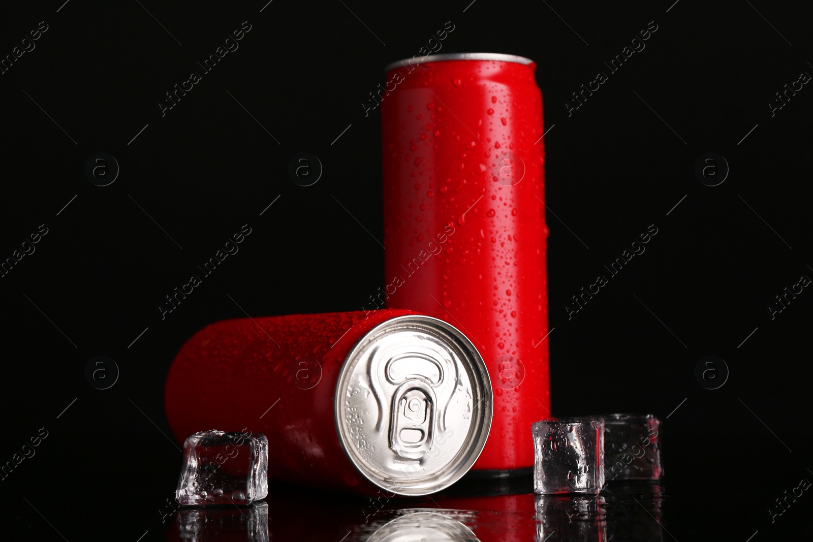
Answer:
M606 414L602 418L606 481L661 479L660 420L652 414Z

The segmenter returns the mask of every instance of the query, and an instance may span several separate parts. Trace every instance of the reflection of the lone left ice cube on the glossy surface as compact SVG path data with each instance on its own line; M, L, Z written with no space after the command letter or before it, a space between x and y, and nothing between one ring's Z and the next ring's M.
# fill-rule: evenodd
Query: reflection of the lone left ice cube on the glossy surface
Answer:
M268 505L183 508L175 514L175 527L167 540L268 542Z

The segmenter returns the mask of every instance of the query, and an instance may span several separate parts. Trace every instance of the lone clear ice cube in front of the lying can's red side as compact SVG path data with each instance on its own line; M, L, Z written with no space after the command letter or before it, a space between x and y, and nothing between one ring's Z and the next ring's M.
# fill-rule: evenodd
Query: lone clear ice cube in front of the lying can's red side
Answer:
M250 505L268 494L262 433L201 431L184 443L175 500L181 505Z

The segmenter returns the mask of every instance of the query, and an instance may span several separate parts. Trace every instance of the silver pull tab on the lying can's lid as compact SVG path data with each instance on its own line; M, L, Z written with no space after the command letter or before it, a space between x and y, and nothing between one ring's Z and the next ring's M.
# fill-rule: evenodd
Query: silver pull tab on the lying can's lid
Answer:
M392 402L389 447L408 459L420 459L432 448L435 394L419 380L403 384Z

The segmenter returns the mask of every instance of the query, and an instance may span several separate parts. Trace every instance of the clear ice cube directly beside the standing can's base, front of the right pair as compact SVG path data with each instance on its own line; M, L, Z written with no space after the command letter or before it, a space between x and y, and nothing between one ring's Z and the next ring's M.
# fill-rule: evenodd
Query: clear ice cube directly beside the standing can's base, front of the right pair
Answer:
M604 486L604 420L546 419L534 423L533 491L596 494Z

